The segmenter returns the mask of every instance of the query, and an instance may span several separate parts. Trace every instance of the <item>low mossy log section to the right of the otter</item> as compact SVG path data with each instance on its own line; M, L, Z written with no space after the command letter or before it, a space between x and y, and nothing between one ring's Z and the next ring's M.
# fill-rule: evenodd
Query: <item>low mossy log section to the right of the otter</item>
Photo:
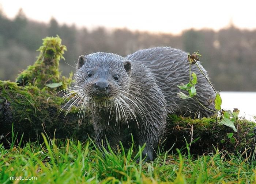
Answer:
M218 120L220 121L220 120ZM216 122L216 117L193 119L181 117L175 114L169 115L168 138L170 145L174 142L177 146L193 142L191 153L212 152L215 148L227 150L228 152L244 152L255 148L255 127L254 122L240 119L235 123L237 132L232 128L220 125ZM232 134L232 136L229 136ZM185 138L184 138L184 137Z

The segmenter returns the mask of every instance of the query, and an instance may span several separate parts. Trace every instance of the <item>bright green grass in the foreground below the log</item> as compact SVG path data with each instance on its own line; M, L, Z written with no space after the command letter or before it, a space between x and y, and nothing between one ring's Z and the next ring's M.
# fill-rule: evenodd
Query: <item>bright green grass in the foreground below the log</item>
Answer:
M16 143L16 145L15 145ZM120 145L118 153L95 148L94 142L51 140L20 147L0 145L0 183L255 183L256 161L249 156L219 152L203 156L159 151L154 162L136 164L143 148ZM186 147L186 145L185 145ZM188 145L187 145L188 148ZM135 148L136 149L136 148ZM105 155L105 156L104 156ZM37 180L10 180L36 176Z

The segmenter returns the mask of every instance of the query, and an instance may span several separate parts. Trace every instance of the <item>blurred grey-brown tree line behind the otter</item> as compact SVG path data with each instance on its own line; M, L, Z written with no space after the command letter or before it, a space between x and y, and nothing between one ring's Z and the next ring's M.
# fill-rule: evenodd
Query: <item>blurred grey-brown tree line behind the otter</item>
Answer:
M203 55L202 65L217 90L256 91L256 30L240 30L232 25L218 32L186 30L181 35L98 27L92 31L75 25L60 25L55 19L48 24L27 19L22 9L8 19L0 11L0 79L14 80L19 71L33 64L45 36L59 35L67 46L65 62L74 66L78 56L91 52L113 52L125 56L136 50L171 46L186 52L197 50ZM60 63L64 75L71 66Z

